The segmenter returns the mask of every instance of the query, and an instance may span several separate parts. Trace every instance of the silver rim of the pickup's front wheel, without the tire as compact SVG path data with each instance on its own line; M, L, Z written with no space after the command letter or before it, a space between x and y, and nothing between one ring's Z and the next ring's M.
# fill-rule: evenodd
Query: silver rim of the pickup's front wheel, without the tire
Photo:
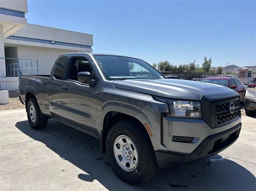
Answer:
M138 165L138 152L132 140L120 135L114 142L114 156L118 165L125 171L133 171Z

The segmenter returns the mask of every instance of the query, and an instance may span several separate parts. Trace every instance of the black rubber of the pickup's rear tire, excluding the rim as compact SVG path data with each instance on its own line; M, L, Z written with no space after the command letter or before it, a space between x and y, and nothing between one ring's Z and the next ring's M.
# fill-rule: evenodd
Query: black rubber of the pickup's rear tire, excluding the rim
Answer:
M35 119L34 118L31 119L30 117L31 115L30 106L34 106L35 116L36 116ZM44 114L42 114L36 98L30 98L30 100L28 100L27 116L28 116L29 125L36 130L44 128L48 122L48 118L44 116Z

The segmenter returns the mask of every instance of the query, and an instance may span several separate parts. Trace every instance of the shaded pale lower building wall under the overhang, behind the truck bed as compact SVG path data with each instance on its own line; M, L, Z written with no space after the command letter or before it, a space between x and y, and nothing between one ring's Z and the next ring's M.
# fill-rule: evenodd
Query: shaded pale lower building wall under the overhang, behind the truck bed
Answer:
M73 50L52 49L44 47L28 47L18 46L18 57L38 59L39 74L50 75L52 66L56 61L58 55L63 53L74 52ZM33 63L33 66L35 63Z

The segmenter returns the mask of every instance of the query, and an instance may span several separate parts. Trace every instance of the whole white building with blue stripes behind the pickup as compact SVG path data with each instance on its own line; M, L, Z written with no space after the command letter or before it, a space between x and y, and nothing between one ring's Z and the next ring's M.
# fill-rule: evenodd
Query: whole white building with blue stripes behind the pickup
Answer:
M62 53L92 51L91 34L27 24L27 12L27 0L0 0L0 82L4 90L18 90L20 72L50 74Z

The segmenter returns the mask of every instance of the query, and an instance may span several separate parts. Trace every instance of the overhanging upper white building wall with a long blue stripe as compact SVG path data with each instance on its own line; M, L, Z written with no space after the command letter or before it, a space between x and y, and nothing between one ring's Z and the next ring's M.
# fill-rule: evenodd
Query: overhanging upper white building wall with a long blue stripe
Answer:
M4 39L5 45L23 45L92 52L93 35L74 31L27 24L14 35Z

